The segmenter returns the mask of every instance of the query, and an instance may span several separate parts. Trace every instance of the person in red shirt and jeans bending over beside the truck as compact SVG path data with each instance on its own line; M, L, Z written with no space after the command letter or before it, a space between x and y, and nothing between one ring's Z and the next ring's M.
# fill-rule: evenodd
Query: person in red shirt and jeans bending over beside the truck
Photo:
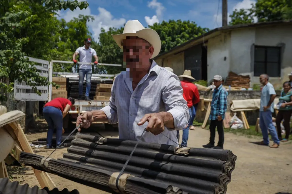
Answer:
M43 108L43 115L46 119L49 129L47 133L47 149L52 148L52 139L54 128L56 128L56 146L61 144L63 118L67 115L70 107L74 105L74 98L55 98L45 104ZM59 148L64 148L60 146Z

